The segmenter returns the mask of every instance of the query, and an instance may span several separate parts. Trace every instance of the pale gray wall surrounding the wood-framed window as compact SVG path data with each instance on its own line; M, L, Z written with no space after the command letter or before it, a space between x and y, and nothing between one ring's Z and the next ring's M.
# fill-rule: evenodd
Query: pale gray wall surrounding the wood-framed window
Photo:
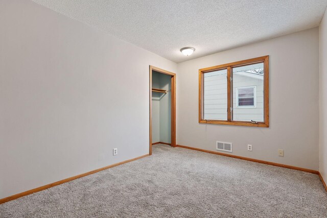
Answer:
M265 55L270 56L270 127L199 124L198 69ZM318 28L179 63L177 71L178 144L216 151L216 140L227 141L233 155L318 169Z

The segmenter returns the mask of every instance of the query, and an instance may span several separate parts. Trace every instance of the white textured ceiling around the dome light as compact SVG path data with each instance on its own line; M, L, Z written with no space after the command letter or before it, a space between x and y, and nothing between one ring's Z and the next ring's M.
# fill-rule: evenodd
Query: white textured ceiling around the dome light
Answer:
M327 0L32 0L176 63L317 27ZM193 46L192 56L181 47Z

